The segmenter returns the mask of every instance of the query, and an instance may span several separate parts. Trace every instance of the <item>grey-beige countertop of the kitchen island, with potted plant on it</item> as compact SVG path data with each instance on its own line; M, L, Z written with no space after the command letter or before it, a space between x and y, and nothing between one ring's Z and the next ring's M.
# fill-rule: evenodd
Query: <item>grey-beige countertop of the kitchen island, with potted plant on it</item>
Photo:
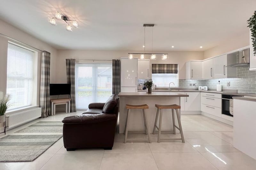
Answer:
M179 92L120 92L118 97L188 97L188 94L181 94Z

